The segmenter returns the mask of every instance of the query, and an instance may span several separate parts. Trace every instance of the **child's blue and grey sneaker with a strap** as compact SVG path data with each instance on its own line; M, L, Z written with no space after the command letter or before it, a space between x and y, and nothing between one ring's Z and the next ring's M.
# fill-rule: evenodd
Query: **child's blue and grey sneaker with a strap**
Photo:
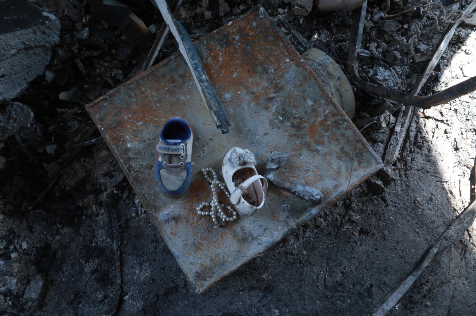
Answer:
M159 158L156 178L160 191L178 198L188 189L192 176L193 131L183 119L170 119L156 145Z

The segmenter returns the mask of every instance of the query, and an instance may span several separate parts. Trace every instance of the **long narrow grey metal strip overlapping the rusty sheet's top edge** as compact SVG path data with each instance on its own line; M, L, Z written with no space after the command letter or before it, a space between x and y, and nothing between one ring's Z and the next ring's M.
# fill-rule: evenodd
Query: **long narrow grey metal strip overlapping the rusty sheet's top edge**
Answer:
M162 14L164 21L169 26L170 32L172 32L174 38L177 40L178 49L182 53L182 56L187 62L188 68L192 72L198 91L207 105L208 110L215 121L215 125L221 130L222 134L228 133L228 127L230 127L231 124L211 86L207 73L205 72L203 64L198 56L197 49L195 49L190 36L188 36L187 31L183 28L180 22L172 17L172 13L170 12L165 0L154 1Z

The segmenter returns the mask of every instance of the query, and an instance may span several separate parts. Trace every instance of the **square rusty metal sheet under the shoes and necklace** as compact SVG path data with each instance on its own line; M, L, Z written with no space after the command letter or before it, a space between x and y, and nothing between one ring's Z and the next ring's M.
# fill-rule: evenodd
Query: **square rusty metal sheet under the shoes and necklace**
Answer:
M88 112L144 207L155 214L151 217L178 264L202 292L383 164L262 7L196 48L232 123L229 134L215 127L179 54L94 101ZM173 117L187 120L195 132L192 183L175 199L161 194L155 180L155 144ZM254 215L208 231L208 220L195 210L211 197L200 170L220 173L232 146L252 150L260 174L272 151L287 153L280 176L319 189L323 203L312 206L271 185L265 206Z

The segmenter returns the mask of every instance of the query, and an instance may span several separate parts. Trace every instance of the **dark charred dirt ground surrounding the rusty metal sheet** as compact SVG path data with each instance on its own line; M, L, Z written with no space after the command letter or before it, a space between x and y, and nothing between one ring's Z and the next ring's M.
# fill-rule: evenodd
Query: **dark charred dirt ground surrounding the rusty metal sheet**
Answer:
M36 2L62 21L61 40L47 67L54 73L51 82L42 75L14 100L33 110L33 124L0 144L0 315L103 315L114 309L106 195L117 212L121 240L117 315L365 315L411 273L474 198L476 93L418 110L395 164L297 229L271 254L253 258L198 295L103 140L82 148L58 184L30 209L73 152L69 146L90 126L85 104L119 85L144 51L119 26L99 20L90 4L95 1ZM451 11L470 1L443 2ZM257 4L233 0L228 11L215 3L200 11L203 3L188 2L179 15L194 38ZM350 12L314 8L299 16L285 1L262 4L344 64ZM385 7L380 1L368 4L371 23L362 48L369 56L361 58L361 72L373 82L408 91L427 62L412 57L431 58L444 33L419 11L387 19L381 13ZM402 9L392 3L391 12ZM158 29L159 13L150 12L148 1L135 10ZM86 27L89 39L76 36ZM153 38L149 34L142 45L149 47ZM423 92L444 89L474 71L475 44L474 27L461 24ZM175 49L169 39L156 61ZM357 126L372 119L381 123L362 131L381 155L400 105L353 86ZM59 99L65 91L72 97ZM88 139L99 136L95 133ZM51 145L57 146L54 153ZM438 253L389 314L476 315L475 236L473 225Z

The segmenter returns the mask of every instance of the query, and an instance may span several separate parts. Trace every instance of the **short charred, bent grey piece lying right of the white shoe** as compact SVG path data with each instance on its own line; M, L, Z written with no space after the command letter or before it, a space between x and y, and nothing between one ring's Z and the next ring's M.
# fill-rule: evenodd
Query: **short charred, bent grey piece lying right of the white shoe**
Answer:
M321 204L323 195L316 188L311 188L295 182L289 182L277 177L278 169L286 162L286 155L279 152L272 153L266 162L266 172L264 177L271 181L276 187L294 194L307 202Z

